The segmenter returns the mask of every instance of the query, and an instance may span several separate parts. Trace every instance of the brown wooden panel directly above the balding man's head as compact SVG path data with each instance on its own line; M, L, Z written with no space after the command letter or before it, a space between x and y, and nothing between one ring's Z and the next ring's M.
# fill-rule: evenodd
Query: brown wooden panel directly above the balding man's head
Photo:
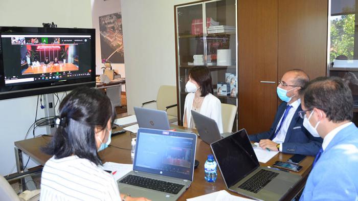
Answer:
M327 0L278 0L278 79L290 69L326 76L327 16Z

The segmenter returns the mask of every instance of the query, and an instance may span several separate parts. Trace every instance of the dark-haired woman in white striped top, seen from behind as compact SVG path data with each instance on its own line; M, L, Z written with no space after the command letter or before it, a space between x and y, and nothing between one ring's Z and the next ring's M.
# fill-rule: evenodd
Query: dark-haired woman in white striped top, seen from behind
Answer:
M102 169L98 151L110 144L116 113L109 98L79 87L59 107L58 128L42 150L53 155L43 167L40 200L148 200L120 194L115 178Z

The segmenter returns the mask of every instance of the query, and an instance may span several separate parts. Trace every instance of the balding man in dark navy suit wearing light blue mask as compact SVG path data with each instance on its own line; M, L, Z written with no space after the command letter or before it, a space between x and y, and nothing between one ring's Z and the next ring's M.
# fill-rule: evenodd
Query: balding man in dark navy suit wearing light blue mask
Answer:
M322 139L312 137L303 127L300 90L309 82L302 70L286 72L277 86L277 95L283 101L278 107L274 123L269 131L249 136L251 141L259 142L263 149L284 153L316 155L322 146Z

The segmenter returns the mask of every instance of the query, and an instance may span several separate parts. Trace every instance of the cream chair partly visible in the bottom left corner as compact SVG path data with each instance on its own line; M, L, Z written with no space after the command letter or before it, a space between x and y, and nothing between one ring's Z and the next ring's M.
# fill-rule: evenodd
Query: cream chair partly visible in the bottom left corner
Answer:
M40 189L24 191L17 195L4 176L0 175L0 200L9 201L38 201L40 199Z

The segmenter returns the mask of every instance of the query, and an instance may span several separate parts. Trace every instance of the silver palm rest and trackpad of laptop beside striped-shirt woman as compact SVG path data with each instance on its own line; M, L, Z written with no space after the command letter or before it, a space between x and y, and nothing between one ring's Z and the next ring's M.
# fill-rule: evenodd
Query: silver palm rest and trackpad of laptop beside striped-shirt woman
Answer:
M151 200L165 200L173 198L173 196L168 193L162 193L149 189L146 190L139 187L123 187L120 189L120 193L130 194L131 197L146 197Z

